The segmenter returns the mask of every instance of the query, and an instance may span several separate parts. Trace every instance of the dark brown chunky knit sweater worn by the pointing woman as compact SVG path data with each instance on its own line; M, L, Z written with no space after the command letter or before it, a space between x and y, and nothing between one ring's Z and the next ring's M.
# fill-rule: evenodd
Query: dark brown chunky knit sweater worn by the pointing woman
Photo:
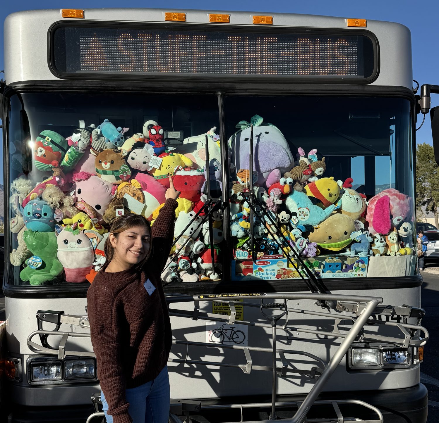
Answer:
M98 272L87 292L97 376L115 423L131 423L125 389L155 379L172 345L160 274L173 242L177 202L167 199L152 225L152 252L141 271ZM144 287L149 280L155 291Z

